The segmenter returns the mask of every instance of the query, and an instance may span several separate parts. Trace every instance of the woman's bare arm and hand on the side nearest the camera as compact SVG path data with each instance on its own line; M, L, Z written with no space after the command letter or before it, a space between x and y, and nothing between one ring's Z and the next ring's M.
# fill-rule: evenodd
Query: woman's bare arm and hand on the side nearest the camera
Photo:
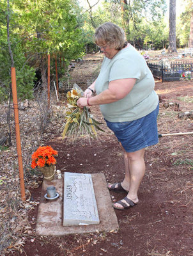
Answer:
M107 90L89 99L89 105L93 106L108 104L123 99L128 93L130 93L134 87L135 82L135 78L111 81ZM83 108L84 106L88 106L88 100L85 98L80 98L77 101L77 104L80 108Z

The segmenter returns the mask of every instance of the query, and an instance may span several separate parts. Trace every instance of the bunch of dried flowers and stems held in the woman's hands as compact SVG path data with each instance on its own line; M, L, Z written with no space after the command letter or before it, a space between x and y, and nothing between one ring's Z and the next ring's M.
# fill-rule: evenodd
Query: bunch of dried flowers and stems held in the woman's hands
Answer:
M82 140L90 139L90 137L97 137L96 130L102 130L98 125L102 124L97 122L88 108L79 108L77 106L77 100L81 97L81 92L72 89L67 93L67 111L66 122L63 126L63 139L68 136L70 143L73 143L77 138Z

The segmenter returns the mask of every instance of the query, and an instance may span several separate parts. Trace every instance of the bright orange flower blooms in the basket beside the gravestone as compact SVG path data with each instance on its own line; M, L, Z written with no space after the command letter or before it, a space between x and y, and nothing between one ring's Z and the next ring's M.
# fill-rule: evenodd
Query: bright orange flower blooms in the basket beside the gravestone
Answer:
M58 156L58 151L50 146L38 147L38 149L31 156L31 168L50 166L56 164L54 156Z

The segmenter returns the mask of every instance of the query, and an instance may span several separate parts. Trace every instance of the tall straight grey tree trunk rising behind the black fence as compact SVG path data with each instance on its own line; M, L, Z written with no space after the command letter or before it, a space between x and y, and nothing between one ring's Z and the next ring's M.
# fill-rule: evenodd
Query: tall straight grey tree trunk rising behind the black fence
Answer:
M176 51L176 0L169 0L169 47L168 52Z

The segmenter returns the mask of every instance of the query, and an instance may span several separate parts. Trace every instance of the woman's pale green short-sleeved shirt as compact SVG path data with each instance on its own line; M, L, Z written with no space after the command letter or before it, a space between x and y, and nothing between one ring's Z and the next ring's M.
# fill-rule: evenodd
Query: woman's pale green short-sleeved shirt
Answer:
M102 115L109 122L136 120L157 108L153 75L143 56L132 45L119 51L111 60L104 58L95 83L96 94L107 90L109 82L126 78L137 79L130 93L116 102L100 105Z

